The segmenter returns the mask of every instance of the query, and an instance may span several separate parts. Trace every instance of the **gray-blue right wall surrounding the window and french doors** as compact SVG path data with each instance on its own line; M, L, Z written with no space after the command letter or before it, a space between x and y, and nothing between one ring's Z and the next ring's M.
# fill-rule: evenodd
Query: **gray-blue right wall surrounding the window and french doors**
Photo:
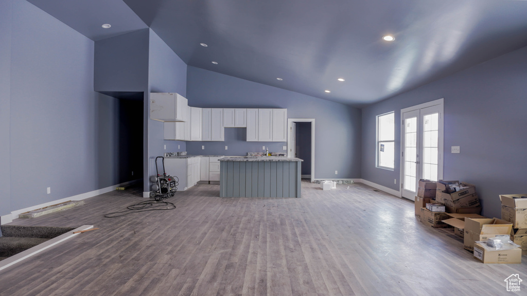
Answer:
M527 172L527 47L468 70L363 108L363 165L365 180L398 190L395 170L375 167L375 116L444 98L444 179L476 185L483 215L501 216L500 194L525 193ZM396 155L400 129L396 124ZM450 147L461 146L460 154ZM399 182L397 182L399 183Z

